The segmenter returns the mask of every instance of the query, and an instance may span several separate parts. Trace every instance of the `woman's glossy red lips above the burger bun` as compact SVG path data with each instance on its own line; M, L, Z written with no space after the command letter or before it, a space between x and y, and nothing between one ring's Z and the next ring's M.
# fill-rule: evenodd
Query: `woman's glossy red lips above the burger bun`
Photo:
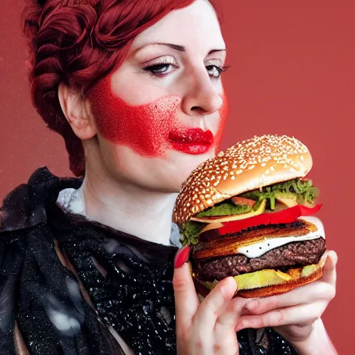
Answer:
M214 144L214 135L210 130L201 128L189 128L186 130L174 130L169 133L168 140L174 150L182 153L198 155L209 151Z

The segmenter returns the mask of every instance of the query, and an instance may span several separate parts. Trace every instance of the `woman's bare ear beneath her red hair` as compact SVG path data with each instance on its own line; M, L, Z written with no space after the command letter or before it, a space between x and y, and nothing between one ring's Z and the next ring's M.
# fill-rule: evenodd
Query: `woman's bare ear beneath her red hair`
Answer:
M59 85L58 97L62 112L76 136L82 140L94 137L96 125L89 100L64 83Z

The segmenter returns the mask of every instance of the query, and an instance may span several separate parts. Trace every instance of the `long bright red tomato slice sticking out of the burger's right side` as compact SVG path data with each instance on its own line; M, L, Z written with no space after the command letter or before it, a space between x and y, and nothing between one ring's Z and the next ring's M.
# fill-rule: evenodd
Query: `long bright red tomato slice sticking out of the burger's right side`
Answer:
M232 220L223 223L223 227L218 228L220 235L241 232L249 227L257 227L258 225L278 225L281 223L293 223L301 216L310 216L320 210L322 205L315 207L306 207L297 205L294 207L283 209L275 213L263 213L259 216L245 218L242 220Z

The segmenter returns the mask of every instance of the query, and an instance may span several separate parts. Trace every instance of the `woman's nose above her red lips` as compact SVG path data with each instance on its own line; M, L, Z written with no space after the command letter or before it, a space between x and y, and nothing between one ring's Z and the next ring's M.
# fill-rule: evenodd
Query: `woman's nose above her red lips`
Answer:
M207 71L195 71L190 74L186 82L186 91L182 97L182 110L190 116L206 116L221 107L223 97L216 92L217 85L211 83L216 80Z

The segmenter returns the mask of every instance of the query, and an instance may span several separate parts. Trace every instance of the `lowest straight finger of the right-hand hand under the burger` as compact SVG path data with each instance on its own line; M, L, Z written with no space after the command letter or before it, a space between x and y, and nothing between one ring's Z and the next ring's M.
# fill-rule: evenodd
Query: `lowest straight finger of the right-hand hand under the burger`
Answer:
M259 315L241 315L236 330L245 328L260 329L264 327L281 327L284 325L311 324L321 317L327 302L319 301L311 304L275 309Z

